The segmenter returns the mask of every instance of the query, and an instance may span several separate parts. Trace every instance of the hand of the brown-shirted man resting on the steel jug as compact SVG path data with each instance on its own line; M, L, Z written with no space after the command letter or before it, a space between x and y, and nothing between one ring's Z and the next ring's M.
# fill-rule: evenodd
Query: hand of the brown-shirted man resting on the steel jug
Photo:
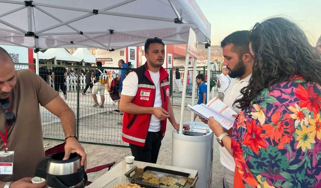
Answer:
M65 156L63 160L69 159L70 153L78 153L81 156L80 164L87 168L87 154L75 137L69 137L65 144Z

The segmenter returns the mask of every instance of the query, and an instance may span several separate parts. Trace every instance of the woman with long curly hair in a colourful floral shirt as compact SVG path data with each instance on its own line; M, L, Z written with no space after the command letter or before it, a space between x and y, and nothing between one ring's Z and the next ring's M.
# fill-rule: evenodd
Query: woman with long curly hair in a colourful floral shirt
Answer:
M283 18L256 24L249 85L224 146L236 162L235 187L321 187L321 57ZM223 128L208 122L219 136Z

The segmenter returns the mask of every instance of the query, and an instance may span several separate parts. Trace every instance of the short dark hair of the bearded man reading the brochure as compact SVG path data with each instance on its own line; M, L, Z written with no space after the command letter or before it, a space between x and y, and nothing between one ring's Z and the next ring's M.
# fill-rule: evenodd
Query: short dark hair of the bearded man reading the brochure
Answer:
M221 42L221 47L224 48L226 45L233 44L233 51L241 57L243 54L249 54L250 44L250 31L236 31L229 36L225 37Z

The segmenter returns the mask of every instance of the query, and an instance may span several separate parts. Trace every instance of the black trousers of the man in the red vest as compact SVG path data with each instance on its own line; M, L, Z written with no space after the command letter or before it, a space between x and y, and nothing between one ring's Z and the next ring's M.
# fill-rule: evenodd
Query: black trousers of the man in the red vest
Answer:
M131 154L135 157L135 160L143 162L156 163L159 148L162 144L162 134L161 131L149 132L145 140L145 146L141 147L134 144L129 144Z

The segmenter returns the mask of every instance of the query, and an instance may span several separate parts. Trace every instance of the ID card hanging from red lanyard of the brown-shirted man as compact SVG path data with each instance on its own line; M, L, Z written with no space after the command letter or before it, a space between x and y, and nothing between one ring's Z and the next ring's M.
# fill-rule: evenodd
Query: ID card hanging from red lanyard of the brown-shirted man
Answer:
M0 174L12 175L14 172L15 151L0 151Z

